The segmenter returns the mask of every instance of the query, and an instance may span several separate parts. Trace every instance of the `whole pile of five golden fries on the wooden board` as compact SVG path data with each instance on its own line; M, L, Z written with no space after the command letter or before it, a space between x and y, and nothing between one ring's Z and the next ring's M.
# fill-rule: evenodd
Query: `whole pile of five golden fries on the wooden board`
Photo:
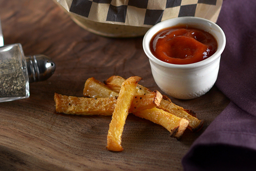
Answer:
M193 132L203 126L191 110L183 109L158 91L139 85L141 77L111 76L104 83L92 78L85 82L84 97L55 93L56 112L76 115L112 115L107 148L122 151L121 136L128 113L162 125L170 136L180 139L186 128Z

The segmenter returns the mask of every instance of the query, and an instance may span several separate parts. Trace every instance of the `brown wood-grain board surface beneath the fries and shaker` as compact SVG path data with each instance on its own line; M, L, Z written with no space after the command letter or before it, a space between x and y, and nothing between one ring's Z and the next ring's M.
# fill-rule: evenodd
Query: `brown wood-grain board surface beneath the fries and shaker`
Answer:
M56 63L53 76L30 84L30 97L0 103L0 170L183 170L182 157L227 106L215 86L194 100L171 100L205 120L200 132L186 130L177 141L162 126L129 114L122 152L107 150L111 116L64 115L55 112L54 93L82 97L89 77L140 76L154 82L142 37L114 39L76 25L52 0L0 0L5 44L21 43L25 55L45 54ZM162 91L160 91L162 92Z

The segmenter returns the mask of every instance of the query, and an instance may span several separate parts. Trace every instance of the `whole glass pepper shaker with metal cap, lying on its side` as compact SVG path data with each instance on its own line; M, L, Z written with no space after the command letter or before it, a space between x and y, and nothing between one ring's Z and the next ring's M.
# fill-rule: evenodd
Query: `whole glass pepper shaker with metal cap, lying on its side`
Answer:
M24 56L21 44L0 47L0 102L28 98L29 83L48 79L55 68L45 55Z

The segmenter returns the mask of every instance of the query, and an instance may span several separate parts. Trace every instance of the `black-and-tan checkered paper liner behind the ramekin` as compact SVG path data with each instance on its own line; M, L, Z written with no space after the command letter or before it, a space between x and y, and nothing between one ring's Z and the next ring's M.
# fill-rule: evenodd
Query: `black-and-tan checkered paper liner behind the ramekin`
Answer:
M221 4L222 0L73 0L69 11L102 23L151 27L174 17L195 16L214 21Z

